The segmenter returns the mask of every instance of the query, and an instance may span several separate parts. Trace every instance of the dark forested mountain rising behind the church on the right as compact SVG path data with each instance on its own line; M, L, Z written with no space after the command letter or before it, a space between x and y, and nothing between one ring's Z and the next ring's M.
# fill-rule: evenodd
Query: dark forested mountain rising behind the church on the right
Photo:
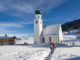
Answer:
M80 28L80 19L70 21L70 22L64 23L62 25L63 31L74 30L74 29L78 29L78 28Z

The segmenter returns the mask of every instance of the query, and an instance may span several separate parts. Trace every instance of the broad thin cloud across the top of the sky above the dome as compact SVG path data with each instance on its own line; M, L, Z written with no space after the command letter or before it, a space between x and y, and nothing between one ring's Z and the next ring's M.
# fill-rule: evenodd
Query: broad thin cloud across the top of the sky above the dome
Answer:
M33 13L35 8L40 8L45 12L61 6L67 1L69 0L0 0L0 11L20 16L22 13Z

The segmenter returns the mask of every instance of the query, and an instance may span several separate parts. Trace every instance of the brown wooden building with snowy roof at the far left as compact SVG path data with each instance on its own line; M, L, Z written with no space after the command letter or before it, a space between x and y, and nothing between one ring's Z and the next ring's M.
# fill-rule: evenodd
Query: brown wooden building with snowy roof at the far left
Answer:
M0 45L13 45L16 41L16 36L8 37L7 35L0 37Z

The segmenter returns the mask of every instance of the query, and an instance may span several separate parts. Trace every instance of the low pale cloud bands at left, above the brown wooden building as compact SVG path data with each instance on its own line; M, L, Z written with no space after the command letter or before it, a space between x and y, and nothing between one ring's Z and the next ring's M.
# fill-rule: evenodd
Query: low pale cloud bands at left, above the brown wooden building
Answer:
M0 34L3 33L16 33L17 31L9 30L9 28L23 28L22 24L17 23L0 23Z

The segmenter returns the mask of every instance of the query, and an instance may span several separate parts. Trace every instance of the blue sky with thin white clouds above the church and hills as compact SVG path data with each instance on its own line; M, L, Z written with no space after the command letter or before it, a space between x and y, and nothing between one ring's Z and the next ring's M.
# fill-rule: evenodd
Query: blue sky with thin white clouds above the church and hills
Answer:
M33 35L37 8L43 25L80 18L80 0L0 0L0 34Z

